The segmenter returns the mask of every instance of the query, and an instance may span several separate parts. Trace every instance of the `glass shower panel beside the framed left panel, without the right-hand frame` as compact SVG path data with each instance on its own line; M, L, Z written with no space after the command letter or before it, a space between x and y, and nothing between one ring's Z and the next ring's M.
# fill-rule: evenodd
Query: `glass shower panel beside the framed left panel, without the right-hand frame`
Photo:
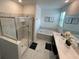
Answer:
M17 17L16 18L16 27L17 27L17 35L18 40L26 39L28 40L28 20L25 17Z

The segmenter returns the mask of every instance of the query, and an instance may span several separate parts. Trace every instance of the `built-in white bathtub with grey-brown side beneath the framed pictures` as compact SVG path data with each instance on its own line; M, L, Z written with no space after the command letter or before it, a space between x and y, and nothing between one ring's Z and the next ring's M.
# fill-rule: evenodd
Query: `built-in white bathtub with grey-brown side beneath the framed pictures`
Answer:
M47 40L47 41L51 41L52 36L53 36L53 30L40 29L37 32L37 38L44 39L44 40Z

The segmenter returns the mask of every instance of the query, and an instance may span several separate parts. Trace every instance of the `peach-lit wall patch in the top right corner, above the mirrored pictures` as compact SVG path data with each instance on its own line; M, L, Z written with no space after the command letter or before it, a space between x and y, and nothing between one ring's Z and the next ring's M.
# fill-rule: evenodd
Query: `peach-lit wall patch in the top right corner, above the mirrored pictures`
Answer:
M79 0L75 0L69 5L67 9L67 14L68 15L79 14Z

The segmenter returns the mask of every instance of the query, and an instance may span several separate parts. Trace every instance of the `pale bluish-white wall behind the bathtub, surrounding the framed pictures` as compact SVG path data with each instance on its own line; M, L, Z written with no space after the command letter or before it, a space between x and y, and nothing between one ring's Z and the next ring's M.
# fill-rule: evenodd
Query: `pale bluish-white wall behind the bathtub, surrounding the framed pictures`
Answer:
M41 14L41 27L50 28L50 29L57 29L59 16L60 16L59 10L42 9L41 13L42 13ZM45 22L44 17L46 17L46 16L54 17L54 22L53 23Z

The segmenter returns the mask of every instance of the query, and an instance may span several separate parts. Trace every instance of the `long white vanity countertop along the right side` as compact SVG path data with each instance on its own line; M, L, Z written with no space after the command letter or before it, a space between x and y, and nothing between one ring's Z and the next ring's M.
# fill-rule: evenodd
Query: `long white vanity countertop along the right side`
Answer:
M53 32L53 35L60 59L79 59L79 54L76 53L72 46L66 46L65 40L62 39L63 37L59 33Z

